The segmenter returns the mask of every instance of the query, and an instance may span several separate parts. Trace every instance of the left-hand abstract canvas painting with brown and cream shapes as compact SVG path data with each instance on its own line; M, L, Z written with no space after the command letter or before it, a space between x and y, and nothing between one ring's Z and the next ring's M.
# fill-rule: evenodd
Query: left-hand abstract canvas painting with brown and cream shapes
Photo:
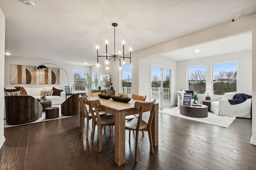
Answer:
M11 84L36 84L36 66L11 64Z

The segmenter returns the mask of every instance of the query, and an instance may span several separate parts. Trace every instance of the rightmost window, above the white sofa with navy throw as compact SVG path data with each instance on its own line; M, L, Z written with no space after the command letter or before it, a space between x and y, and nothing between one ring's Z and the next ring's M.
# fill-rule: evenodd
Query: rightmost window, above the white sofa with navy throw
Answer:
M213 93L236 92L237 63L213 64Z

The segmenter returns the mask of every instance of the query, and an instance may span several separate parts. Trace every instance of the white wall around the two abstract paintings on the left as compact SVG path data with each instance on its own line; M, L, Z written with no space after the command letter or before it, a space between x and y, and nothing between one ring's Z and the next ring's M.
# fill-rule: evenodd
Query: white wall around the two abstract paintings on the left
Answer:
M11 83L11 64L19 64L19 65L27 65L27 66L39 66L43 63L54 63L61 66L68 74L64 72L60 68L60 84L39 84L39 70L36 72L36 84L10 84ZM53 64L44 64L47 67L59 68ZM56 63L52 61L40 61L40 60L26 60L26 59L16 59L13 57L5 57L5 77L4 77L4 86L5 87L14 87L14 86L24 86L24 87L60 87L60 89L64 90L65 86L69 85L70 88L74 84L74 70L85 70L89 74L91 74L91 67L89 66L79 66L72 64L63 64Z

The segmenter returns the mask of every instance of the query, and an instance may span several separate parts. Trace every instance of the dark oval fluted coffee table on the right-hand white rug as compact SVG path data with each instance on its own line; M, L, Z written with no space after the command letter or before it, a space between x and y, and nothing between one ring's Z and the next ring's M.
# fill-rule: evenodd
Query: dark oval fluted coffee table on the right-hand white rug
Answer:
M188 117L208 117L208 106L186 106L181 104L180 114Z

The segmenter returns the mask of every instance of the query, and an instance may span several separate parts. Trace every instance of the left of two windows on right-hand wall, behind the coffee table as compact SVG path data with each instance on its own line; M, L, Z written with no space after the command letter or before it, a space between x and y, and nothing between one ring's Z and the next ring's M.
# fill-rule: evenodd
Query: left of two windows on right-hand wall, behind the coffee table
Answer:
M206 66L188 67L188 89L204 94L206 87Z

